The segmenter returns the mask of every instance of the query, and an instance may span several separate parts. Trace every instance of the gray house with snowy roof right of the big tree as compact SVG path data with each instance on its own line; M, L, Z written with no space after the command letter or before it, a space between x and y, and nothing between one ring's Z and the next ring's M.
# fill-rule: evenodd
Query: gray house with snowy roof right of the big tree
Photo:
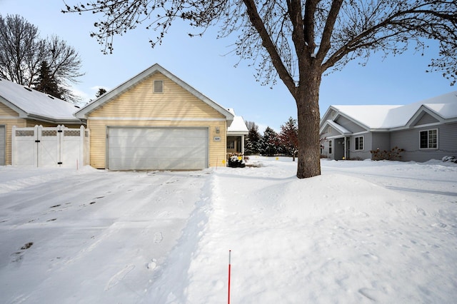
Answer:
M320 134L321 154L336 160L394 147L401 161L457 156L457 91L406 106L330 106Z

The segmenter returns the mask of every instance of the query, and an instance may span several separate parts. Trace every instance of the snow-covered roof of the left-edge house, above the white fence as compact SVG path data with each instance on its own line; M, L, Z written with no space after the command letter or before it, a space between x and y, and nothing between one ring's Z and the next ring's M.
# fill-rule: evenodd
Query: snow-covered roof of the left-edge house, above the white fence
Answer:
M73 103L0 78L0 102L19 113L20 118L30 118L52 123L77 123L78 109Z

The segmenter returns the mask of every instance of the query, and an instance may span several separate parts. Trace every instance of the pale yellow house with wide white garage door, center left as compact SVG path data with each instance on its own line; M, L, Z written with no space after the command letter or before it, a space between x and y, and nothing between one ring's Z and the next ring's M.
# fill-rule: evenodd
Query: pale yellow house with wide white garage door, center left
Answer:
M244 136L242 129L230 129L239 119L233 111L159 64L104 93L75 116L91 131L91 166L111 170L224 166L228 136L230 148ZM233 147L243 153L241 145Z

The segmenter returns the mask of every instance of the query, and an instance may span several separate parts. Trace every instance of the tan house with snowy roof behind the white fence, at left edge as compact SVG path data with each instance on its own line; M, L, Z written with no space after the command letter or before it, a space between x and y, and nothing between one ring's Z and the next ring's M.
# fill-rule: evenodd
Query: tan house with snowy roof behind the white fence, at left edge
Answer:
M73 115L76 110L73 103L0 78L0 166L11 165L13 126L79 128L81 120Z

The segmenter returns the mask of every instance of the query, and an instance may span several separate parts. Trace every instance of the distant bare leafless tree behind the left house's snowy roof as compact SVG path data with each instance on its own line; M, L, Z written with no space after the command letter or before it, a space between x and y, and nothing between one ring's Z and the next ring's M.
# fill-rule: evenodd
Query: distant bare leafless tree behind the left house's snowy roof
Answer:
M41 64L46 62L49 76L55 79L62 98L79 101L69 89L81 74L78 52L58 36L39 38L36 26L19 15L0 15L0 76L10 81L32 86L39 77Z

